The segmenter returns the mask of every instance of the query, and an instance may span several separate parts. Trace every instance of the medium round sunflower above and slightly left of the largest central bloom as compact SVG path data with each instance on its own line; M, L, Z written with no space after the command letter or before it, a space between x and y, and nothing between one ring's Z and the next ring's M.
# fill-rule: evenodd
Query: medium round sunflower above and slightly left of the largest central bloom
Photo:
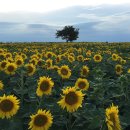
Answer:
M63 79L68 79L71 76L71 70L67 65L63 65L58 69L58 74Z

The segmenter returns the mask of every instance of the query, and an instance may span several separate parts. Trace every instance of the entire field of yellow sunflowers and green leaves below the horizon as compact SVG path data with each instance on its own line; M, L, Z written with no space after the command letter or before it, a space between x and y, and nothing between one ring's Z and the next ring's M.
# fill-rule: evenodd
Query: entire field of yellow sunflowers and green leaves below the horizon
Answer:
M130 130L130 43L0 43L0 130Z

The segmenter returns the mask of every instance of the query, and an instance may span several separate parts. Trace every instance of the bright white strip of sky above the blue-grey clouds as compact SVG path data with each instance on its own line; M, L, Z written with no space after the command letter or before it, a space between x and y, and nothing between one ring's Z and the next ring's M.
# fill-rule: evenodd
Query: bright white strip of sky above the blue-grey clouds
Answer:
M70 6L124 4L130 0L0 0L0 12L49 12Z

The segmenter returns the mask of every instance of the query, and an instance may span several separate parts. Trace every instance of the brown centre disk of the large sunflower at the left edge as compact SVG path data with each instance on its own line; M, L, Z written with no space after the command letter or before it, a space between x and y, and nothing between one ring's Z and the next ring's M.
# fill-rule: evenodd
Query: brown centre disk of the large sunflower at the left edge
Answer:
M12 110L14 104L10 100L3 100L0 103L0 109L4 112L9 112Z

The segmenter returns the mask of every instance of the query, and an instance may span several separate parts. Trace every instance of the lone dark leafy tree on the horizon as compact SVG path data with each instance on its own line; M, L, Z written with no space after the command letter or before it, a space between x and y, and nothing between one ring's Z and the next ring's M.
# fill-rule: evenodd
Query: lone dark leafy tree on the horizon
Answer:
M74 28L73 26L65 26L62 30L57 30L56 38L61 37L66 42L72 42L76 40L79 35L79 29Z

